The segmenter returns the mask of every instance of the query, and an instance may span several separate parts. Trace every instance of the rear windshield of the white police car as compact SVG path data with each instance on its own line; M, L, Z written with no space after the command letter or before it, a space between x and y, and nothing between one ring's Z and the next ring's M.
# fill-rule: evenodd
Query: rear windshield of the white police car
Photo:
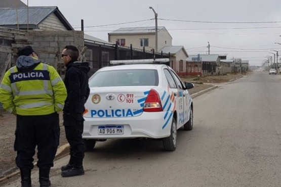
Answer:
M157 70L152 69L100 71L89 80L90 87L156 85L158 85L158 73Z

